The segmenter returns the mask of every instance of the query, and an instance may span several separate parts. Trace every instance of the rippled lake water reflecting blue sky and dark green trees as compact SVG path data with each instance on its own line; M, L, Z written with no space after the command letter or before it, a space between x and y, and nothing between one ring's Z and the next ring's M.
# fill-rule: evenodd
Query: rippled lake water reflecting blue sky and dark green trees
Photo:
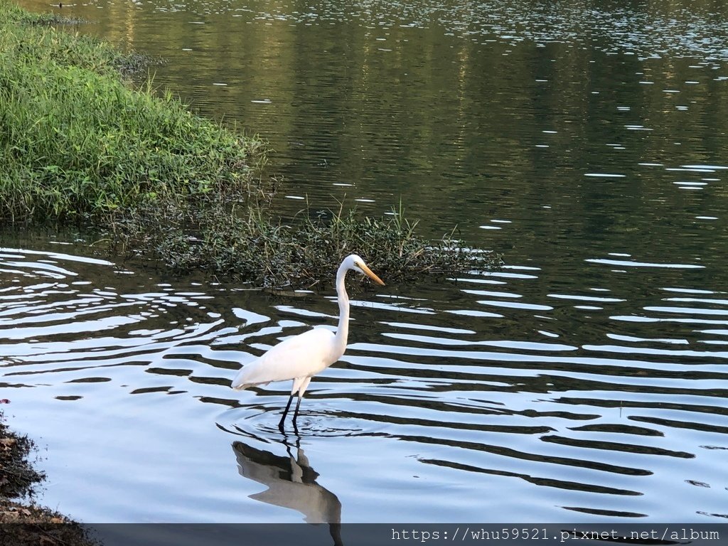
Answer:
M420 234L457 224L506 266L357 293L347 354L282 435L290 384L229 382L336 325L333 286L4 237L0 387L42 502L90 523L726 521L728 7L416 4L64 3L267 138L284 218L401 198Z

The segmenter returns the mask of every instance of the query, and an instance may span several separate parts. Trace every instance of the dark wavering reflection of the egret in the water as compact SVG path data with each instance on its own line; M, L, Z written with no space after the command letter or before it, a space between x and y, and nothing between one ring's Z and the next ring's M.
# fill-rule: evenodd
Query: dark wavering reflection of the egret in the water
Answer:
M316 483L319 473L309 464L301 448L300 437L296 436L293 448L288 438L284 437L281 441L288 456L275 455L240 441L233 442L240 475L267 487L265 491L250 495L250 498L296 510L304 515L307 523L328 523L334 545L343 546L339 498Z

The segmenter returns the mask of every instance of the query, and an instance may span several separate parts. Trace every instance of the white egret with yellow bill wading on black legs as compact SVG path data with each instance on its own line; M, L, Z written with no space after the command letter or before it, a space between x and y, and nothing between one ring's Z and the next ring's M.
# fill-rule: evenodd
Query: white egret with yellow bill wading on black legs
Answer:
M271 381L293 379L288 404L278 427L283 428L285 416L288 415L293 395L298 393L296 411L293 412L293 427L296 427L298 407L301 398L311 382L311 378L324 371L344 355L349 336L349 296L344 286L344 279L349 269L365 274L371 280L384 286L384 282L374 274L356 254L350 254L336 272L336 295L339 299L339 328L336 335L326 328L313 328L298 336L285 339L269 349L264 355L245 365L232 381L232 388L247 389L253 385L266 385Z

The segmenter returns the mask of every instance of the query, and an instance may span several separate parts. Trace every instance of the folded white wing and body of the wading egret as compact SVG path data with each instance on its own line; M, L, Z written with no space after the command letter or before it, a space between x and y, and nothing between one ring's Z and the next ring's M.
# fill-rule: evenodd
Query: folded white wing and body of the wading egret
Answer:
M232 381L233 389L271 381L312 376L334 363L333 332L314 328L285 339L261 357L246 364Z

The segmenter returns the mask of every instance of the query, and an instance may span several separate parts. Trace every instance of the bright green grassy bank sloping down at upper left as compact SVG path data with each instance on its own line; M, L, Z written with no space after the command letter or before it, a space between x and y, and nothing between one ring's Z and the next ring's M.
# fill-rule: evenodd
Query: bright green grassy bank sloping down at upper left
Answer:
M132 90L119 70L138 61L108 44L3 10L15 15L0 23L0 218L85 220L256 184L261 141L151 83Z

